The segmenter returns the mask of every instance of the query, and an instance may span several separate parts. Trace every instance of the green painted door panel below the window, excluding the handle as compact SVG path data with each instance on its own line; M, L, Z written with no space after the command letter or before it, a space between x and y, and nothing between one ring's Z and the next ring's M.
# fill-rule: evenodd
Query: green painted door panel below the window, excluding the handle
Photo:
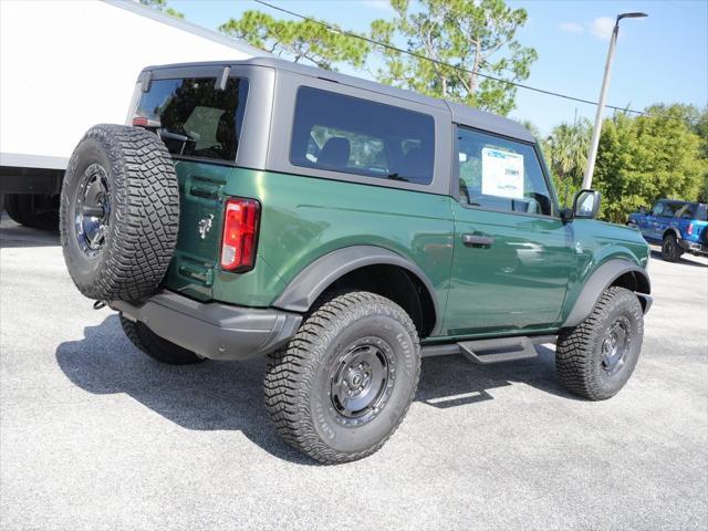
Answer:
M572 223L466 208L452 200L455 258L445 313L449 335L530 333L559 320L573 267ZM468 247L462 235L493 238Z

